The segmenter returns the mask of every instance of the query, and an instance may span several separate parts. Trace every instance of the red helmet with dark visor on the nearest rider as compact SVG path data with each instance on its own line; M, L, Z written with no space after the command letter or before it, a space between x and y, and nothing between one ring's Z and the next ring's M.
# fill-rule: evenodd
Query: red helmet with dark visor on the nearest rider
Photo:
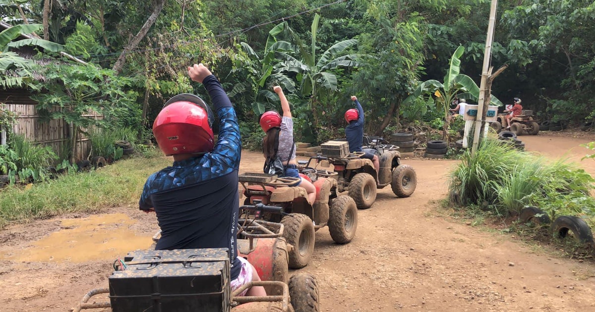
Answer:
M153 122L153 135L167 156L211 152L214 146L209 106L194 94L179 94L165 103Z

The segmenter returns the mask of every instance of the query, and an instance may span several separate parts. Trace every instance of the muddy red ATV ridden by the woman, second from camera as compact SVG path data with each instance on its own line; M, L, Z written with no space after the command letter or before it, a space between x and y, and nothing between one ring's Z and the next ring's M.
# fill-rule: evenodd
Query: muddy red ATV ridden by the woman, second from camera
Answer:
M277 175L246 172L239 175L244 188L245 206L240 216L284 225L283 237L289 247L289 267L305 267L314 253L314 232L328 226L337 244L347 244L358 228L358 210L349 196L337 196L335 172L324 171L312 181L316 187L314 204L308 203L303 187L293 186L299 178L278 178ZM307 178L307 177L305 177ZM262 204L262 205L259 205Z

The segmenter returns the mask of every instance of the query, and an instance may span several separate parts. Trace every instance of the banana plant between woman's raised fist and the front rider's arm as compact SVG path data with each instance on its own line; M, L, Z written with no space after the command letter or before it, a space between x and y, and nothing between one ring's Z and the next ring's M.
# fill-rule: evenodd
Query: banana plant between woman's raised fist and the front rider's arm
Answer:
M335 43L333 46L322 52L317 59L316 43L320 15L314 15L311 25L311 45L307 46L296 33L287 26L287 23L279 24L290 35L295 43L295 52L299 59L287 52L280 52L283 61L275 67L278 73L293 73L299 83L299 91L304 97L308 97L308 108L314 114L314 124L317 125L317 104L321 97L337 91L336 71L339 68L354 68L358 66L355 61L355 54L345 54L350 48L358 43L358 40L348 39Z

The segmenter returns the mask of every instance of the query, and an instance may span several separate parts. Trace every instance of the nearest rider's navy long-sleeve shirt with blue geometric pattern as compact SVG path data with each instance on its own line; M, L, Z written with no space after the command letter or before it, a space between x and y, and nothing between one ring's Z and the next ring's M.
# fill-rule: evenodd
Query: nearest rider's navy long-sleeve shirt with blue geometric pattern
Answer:
M174 162L152 174L140 196L141 210L155 209L161 238L156 250L228 248L231 279L237 259L238 181L241 147L236 112L214 75L203 80L220 118L212 152Z

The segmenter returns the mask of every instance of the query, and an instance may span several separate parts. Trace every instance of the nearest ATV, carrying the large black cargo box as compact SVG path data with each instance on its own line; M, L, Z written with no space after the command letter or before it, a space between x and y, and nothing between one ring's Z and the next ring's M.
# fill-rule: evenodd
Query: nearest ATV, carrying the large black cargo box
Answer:
M159 239L159 234L155 234L154 241ZM283 225L279 223L239 220L239 256L252 263L262 281L246 283L233 293L229 270L224 269L229 266L227 248L134 251L114 265L116 271L109 277L109 288L88 292L73 311L93 308L111 308L113 312L319 311L318 283L314 276L296 273L288 278L287 245L282 235ZM218 276L219 283L213 282ZM167 288L163 287L167 284ZM219 287L218 291L208 289L206 285L211 284ZM267 296L238 296L252 286L264 286ZM126 294L130 292L133 295ZM99 294L109 294L109 301L89 302Z

